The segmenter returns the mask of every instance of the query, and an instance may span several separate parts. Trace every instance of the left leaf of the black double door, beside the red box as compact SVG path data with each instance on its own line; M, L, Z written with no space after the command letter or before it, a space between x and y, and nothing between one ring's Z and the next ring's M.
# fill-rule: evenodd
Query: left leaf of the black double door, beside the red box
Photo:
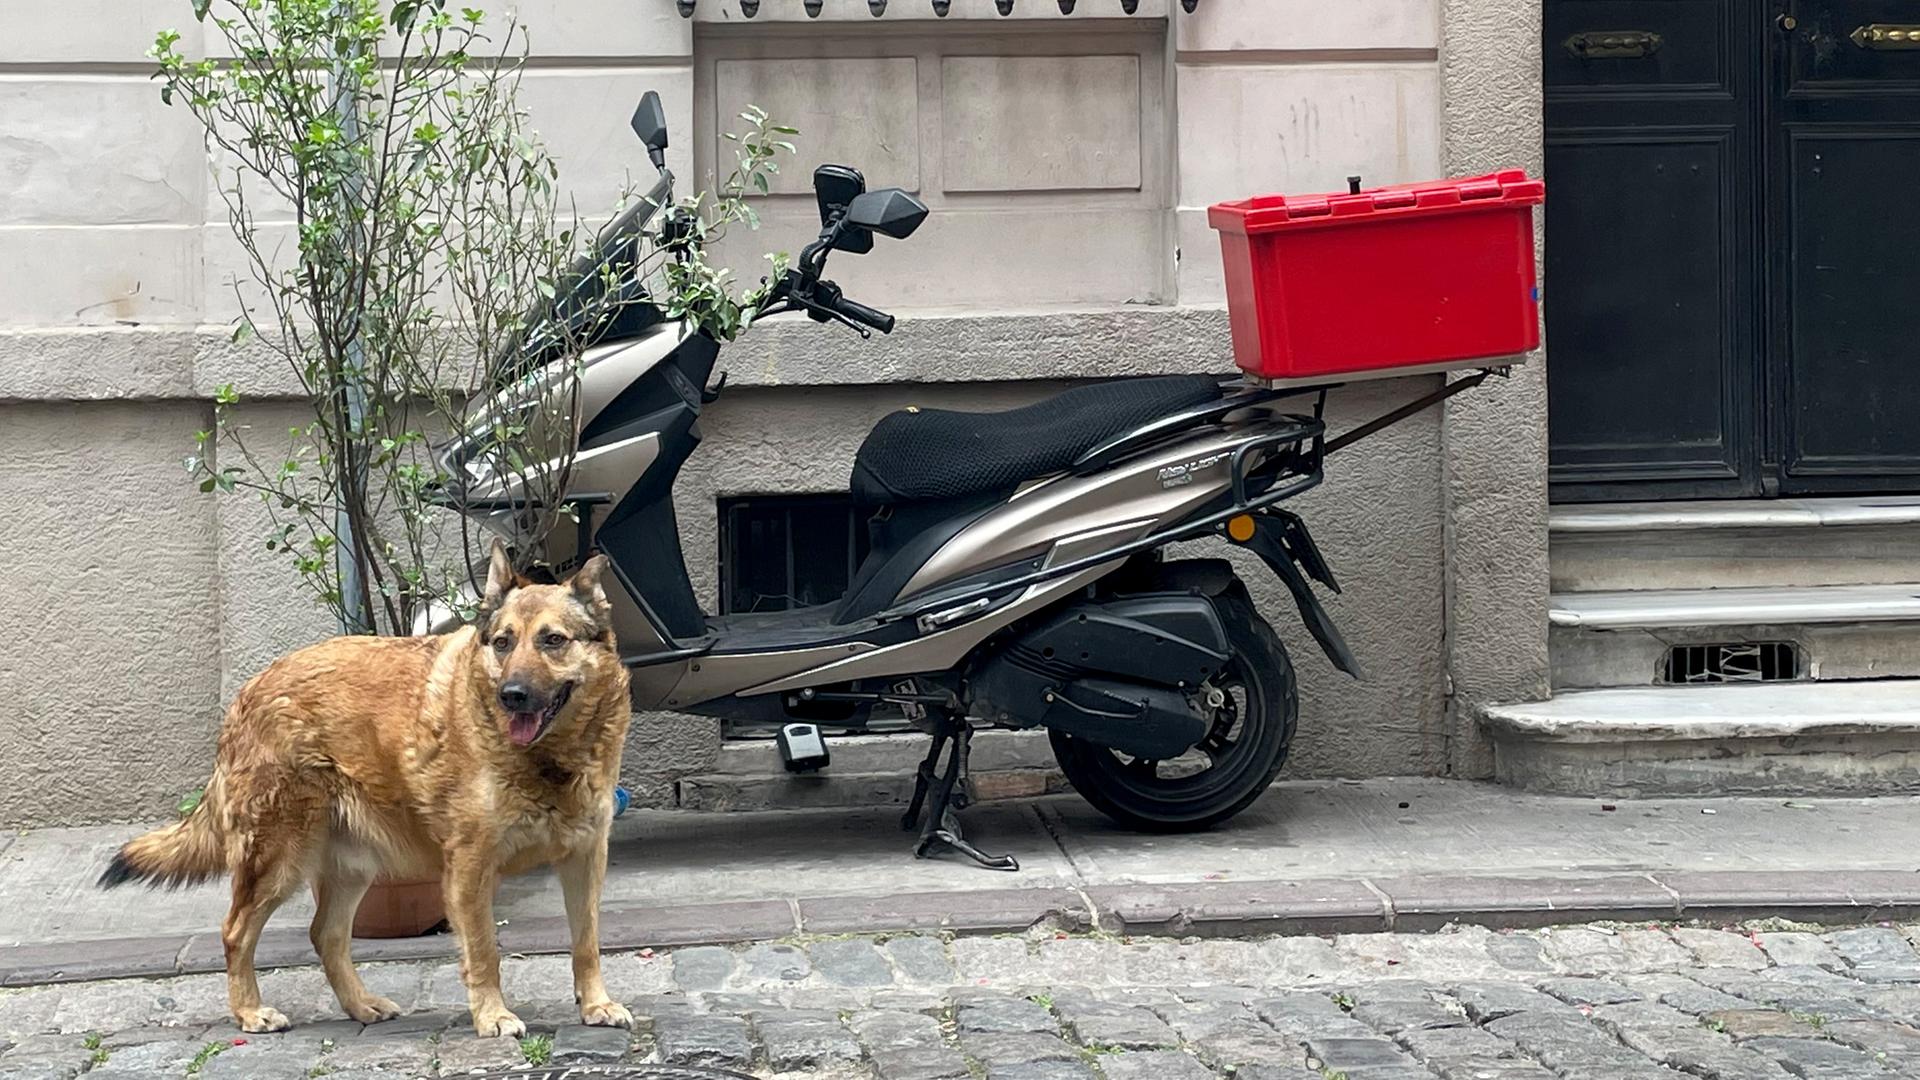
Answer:
M1749 2L1546 0L1555 502L1759 490Z

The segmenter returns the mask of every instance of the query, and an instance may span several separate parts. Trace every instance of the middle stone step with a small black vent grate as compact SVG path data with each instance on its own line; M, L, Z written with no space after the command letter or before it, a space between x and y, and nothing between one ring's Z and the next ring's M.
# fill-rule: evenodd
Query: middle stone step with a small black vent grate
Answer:
M1788 642L1801 678L1920 676L1920 584L1565 592L1548 611L1553 688L1663 682L1672 646Z

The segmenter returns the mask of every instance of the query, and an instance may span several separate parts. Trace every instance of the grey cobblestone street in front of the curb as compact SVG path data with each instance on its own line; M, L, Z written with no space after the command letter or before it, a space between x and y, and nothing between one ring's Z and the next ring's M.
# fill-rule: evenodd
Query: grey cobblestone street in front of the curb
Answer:
M369 965L399 1020L238 1036L221 976L0 995L0 1078L461 1076L532 1063L833 1080L1855 1080L1920 1076L1920 930L1576 926L1267 940L816 938L611 953L634 1032L568 1022L564 957L515 957L534 1036L476 1040L453 965Z

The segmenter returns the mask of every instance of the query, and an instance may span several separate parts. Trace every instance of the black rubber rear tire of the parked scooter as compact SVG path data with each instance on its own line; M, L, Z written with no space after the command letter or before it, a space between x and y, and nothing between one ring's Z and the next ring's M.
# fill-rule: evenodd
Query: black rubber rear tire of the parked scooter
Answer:
M1300 719L1286 646L1240 588L1215 603L1233 661L1221 673L1229 705L1219 709L1215 728L1202 740L1202 746L1213 744L1213 751L1202 751L1210 761L1206 769L1164 776L1167 763L1129 759L1083 738L1046 732L1073 790L1127 828L1196 832L1219 824L1252 805L1286 765Z

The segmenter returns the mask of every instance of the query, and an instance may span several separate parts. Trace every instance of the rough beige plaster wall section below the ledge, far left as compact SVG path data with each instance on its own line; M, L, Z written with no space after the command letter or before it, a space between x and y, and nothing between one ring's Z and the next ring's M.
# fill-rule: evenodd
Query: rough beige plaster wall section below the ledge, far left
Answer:
M213 503L196 402L0 405L0 822L152 817L219 726Z

